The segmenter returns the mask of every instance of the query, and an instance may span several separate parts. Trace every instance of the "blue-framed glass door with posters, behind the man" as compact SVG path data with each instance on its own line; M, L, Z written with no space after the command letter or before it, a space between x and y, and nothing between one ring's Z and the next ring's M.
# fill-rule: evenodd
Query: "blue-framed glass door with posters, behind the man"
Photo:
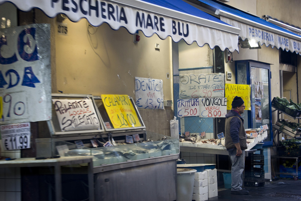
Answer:
M251 111L245 112L245 128L259 128L267 124L268 137L265 146L272 145L272 108L271 108L271 73L270 64L258 61L244 60L235 62L236 83L250 84Z

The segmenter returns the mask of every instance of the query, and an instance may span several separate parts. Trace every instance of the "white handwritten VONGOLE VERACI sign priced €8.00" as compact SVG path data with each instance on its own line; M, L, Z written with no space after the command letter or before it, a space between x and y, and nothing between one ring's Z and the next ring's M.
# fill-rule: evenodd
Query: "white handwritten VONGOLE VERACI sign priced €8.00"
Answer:
M225 117L227 98L200 98L200 117Z

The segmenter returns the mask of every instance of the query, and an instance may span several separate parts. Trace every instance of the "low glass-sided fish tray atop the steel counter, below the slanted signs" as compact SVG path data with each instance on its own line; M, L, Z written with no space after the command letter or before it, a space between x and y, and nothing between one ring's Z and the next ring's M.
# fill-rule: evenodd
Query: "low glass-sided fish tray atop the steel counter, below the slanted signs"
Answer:
M92 155L93 166L99 166L179 153L178 139L149 131L146 131L146 137L148 141L145 142L93 148L58 139L49 139L47 140L50 143L48 155ZM46 139L37 140L37 148L45 149L47 147L45 141ZM42 144L39 145L39 143Z

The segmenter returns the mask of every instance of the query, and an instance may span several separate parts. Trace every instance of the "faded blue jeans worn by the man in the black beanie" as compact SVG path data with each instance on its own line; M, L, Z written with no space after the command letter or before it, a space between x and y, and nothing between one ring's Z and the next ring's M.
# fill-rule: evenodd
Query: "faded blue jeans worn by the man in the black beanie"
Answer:
M231 167L231 190L241 190L243 185L243 172L244 172L244 150L240 156L236 156L236 148L229 152L229 156L232 162Z

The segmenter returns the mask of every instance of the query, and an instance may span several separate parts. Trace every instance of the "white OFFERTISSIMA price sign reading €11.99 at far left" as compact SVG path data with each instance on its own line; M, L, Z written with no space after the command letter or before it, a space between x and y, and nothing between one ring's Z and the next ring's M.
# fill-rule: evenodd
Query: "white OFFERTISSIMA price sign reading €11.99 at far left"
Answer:
M1 125L1 137L5 150L30 148L30 123Z

